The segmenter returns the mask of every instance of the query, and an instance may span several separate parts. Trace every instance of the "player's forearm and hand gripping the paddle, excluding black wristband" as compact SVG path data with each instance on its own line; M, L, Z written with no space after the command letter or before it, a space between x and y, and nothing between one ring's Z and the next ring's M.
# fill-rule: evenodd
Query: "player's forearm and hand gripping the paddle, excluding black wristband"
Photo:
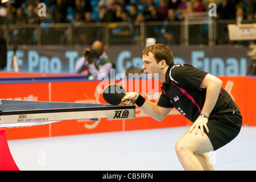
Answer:
M132 102L136 101L138 97L139 94L136 92L126 93L125 96L122 98L121 104L132 104ZM161 107L154 102L146 100L141 106L141 109L151 118L154 118L156 121L162 121L167 116L167 114L170 113L172 107Z

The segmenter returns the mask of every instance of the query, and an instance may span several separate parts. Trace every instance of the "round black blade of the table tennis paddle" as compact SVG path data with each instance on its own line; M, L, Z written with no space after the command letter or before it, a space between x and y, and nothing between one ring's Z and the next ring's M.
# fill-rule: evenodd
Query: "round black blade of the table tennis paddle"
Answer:
M106 102L112 105L120 104L125 96L126 90L118 84L110 84L103 91L103 98Z

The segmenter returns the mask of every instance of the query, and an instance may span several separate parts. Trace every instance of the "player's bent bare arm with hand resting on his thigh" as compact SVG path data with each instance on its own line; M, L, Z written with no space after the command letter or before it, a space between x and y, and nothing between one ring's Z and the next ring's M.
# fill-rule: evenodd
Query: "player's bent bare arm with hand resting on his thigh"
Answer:
M218 100L221 85L222 85L222 81L219 78L213 75L210 75L209 73L205 76L201 84L201 89L207 89L207 91L206 91L204 106L203 106L203 109L201 110L201 114L204 114L207 117L209 117L210 113L212 112ZM204 134L203 127L205 127L207 132L209 132L207 127L207 122L208 122L207 118L201 117L201 115L199 115L199 117L193 123L189 131L192 132L192 130L195 129L195 133L197 133L200 127L201 134Z

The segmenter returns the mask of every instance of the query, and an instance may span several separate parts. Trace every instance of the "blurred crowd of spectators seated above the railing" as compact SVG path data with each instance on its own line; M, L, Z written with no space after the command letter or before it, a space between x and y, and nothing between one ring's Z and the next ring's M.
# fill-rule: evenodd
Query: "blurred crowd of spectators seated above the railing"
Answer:
M250 0L10 0L0 4L0 24L85 22L154 22L183 20L185 13L209 11L216 3L216 19L256 19ZM39 3L46 16L39 16Z

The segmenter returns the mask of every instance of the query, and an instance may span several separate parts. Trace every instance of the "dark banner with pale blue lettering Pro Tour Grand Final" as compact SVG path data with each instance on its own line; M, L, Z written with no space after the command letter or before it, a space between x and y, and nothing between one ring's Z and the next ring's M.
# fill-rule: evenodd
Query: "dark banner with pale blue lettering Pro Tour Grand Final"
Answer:
M246 75L249 57L247 48L235 46L169 46L175 64L192 64L216 76ZM115 75L133 66L142 67L140 46L106 47L115 63ZM18 47L16 51L20 72L74 73L76 62L84 47ZM7 51L7 65L14 51Z

